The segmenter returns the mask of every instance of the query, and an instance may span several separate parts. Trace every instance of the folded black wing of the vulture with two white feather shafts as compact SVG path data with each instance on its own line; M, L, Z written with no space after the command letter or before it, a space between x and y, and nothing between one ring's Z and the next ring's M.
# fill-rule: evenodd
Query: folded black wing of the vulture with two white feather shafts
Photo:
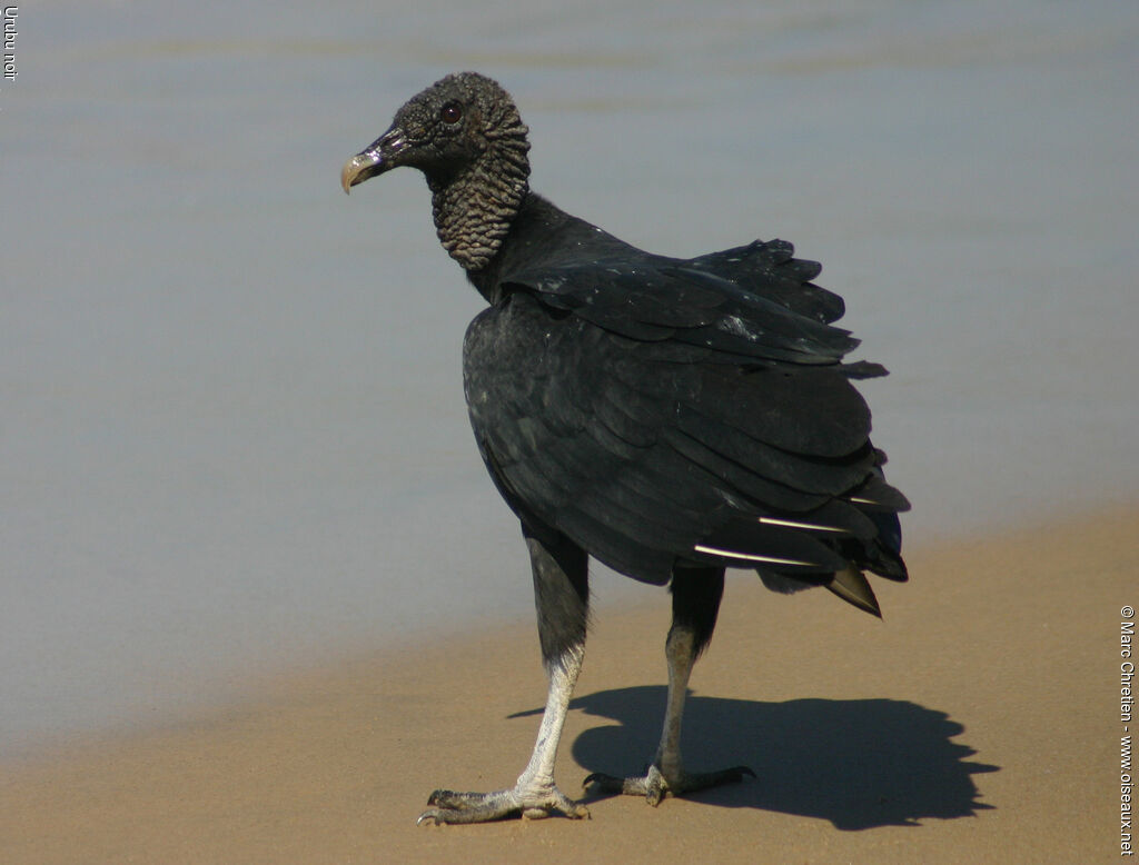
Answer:
M907 503L850 381L884 370L842 363L858 343L816 273L775 241L510 274L468 331L466 387L511 506L653 583L685 563L778 588L846 574L855 596L861 568L904 578Z

